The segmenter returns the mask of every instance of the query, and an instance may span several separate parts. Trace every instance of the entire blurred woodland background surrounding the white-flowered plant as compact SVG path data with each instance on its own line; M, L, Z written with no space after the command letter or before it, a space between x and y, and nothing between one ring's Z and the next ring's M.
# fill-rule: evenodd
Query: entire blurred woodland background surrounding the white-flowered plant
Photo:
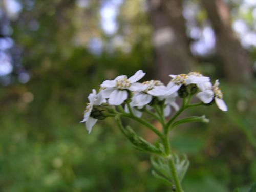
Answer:
M255 20L253 0L1 0L0 191L169 191L113 119L90 135L79 123L93 88L139 69L144 80L191 70L220 79L229 111L188 112L210 123L176 129L173 150L190 160L185 191L248 191Z

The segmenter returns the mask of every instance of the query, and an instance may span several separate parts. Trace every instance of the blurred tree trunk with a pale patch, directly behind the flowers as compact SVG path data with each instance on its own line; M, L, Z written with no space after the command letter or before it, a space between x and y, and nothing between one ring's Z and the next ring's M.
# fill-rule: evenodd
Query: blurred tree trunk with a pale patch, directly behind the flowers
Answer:
M180 0L148 0L156 53L156 77L169 81L169 74L185 73L193 66Z

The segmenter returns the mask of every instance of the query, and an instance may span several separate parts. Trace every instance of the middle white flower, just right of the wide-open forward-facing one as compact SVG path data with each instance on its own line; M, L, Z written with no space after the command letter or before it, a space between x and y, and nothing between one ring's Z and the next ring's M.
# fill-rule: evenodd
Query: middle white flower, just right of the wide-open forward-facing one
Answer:
M140 93L134 94L132 98L133 106L145 106L146 104L152 101L153 96L163 96L165 95L166 87L163 85L161 81L158 80L150 80L142 83L146 85L147 88ZM158 90L163 90L162 92Z

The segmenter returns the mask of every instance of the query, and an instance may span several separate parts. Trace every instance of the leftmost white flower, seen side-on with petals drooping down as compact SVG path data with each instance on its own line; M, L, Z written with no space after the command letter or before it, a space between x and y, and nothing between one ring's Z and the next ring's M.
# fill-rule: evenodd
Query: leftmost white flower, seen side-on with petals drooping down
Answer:
M90 134L92 131L92 127L98 121L98 119L90 117L93 106L101 105L102 103L106 102L106 100L102 97L101 93L97 94L95 89L93 89L93 92L88 96L88 100L89 103L87 103L86 110L84 110L84 116L81 122L86 122L86 129Z

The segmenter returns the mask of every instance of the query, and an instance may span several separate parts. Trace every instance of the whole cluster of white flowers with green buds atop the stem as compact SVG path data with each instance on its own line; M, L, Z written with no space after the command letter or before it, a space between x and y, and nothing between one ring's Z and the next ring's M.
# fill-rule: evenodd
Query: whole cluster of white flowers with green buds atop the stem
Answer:
M81 121L86 123L89 133L98 119L114 116L115 106L121 106L123 109L122 105L124 105L123 113L132 113L134 116L141 117L144 111L156 110L154 106L161 105L164 109L163 114L167 117L172 108L179 110L176 103L177 97L187 98L196 93L205 105L215 102L220 110L227 111L218 80L212 86L209 77L198 72L190 72L169 75L172 79L167 86L159 80L137 82L144 75L142 70L129 78L121 75L114 80L103 81L98 94L93 90L88 97L90 102L87 104L84 118Z

